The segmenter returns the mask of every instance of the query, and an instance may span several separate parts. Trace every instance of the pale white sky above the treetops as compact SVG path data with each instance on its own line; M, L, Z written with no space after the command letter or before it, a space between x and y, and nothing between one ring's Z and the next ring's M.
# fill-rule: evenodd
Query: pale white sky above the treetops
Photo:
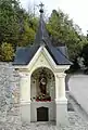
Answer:
M74 23L77 24L84 35L88 30L88 0L20 0L24 9L28 9L30 4L38 5L40 2L45 4L48 13L51 13L53 9L61 9L64 13L73 18Z

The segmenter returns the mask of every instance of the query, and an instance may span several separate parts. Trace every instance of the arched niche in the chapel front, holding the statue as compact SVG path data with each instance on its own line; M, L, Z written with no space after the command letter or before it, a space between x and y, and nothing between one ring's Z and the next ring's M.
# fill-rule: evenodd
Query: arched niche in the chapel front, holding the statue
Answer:
M43 84L43 86L42 86ZM30 100L43 101L50 96L50 101L55 99L55 78L51 69L47 67L39 67L33 72L30 77ZM38 99L39 98L39 99ZM42 100L41 99L41 100Z

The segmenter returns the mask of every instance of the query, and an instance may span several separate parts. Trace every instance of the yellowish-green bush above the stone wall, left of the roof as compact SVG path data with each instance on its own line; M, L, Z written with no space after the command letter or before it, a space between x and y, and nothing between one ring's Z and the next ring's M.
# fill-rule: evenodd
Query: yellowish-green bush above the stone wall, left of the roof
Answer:
M11 43L3 42L0 48L1 61L10 62L14 56L14 49Z

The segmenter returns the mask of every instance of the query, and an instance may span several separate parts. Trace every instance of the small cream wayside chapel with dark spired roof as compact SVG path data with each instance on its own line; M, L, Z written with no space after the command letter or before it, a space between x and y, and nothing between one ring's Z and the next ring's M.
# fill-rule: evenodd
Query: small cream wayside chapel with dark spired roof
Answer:
M43 21L43 4L34 44L17 48L13 66L20 74L21 118L33 121L67 121L65 70L71 62L66 46L54 47Z

